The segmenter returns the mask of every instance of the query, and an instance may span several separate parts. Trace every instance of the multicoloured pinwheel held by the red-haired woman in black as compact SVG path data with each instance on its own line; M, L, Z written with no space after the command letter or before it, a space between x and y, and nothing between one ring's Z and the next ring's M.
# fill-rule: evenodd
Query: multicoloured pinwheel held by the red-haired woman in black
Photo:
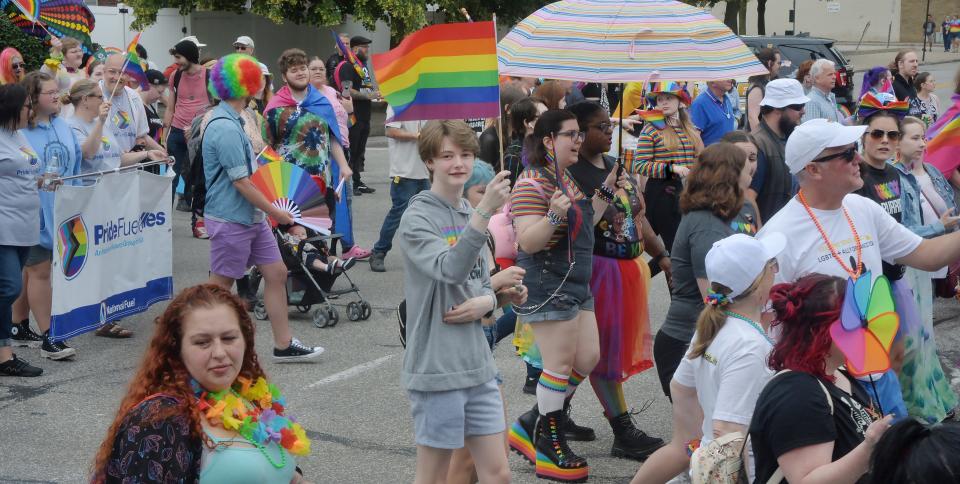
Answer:
M872 288L870 281L869 271L856 281L847 280L840 319L830 325L830 336L853 376L890 369L890 345L900 326L890 281L880 276Z

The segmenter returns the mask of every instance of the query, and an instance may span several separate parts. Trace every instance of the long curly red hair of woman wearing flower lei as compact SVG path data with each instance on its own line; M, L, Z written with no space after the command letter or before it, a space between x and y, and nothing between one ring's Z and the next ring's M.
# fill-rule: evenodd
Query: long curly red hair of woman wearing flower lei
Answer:
M258 69L259 72L259 69ZM107 430L107 435L100 444L93 463L93 476L102 476L106 472L106 465L113 450L113 443L127 414L143 403L151 395L158 393L176 398L177 405L165 412L154 415L157 421L173 415L184 415L190 422L190 436L202 439L212 448L209 438L203 433L200 423L200 409L194 405L193 389L190 387L190 374L187 372L183 359L180 356L183 340L183 323L190 312L200 308L211 308L224 305L233 309L240 322L240 333L243 335L244 352L243 363L240 367L242 377L256 380L265 376L260 361L253 349L254 327L250 315L240 299L229 290L212 284L202 284L188 287L177 294L167 309L155 321L156 330L153 339L143 355L140 369L130 380L130 387L126 396L120 402L120 408L114 417L113 423Z

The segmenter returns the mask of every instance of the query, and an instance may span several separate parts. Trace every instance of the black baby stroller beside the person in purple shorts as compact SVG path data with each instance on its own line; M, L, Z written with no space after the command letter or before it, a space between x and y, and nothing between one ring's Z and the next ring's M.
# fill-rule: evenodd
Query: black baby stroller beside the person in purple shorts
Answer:
M311 244L321 252L326 252L329 243L340 238L339 234L322 234L308 229L308 234L313 235L305 240L300 240L294 246L283 232L278 228L273 229L273 234L277 238L277 246L280 248L280 256L284 265L287 266L287 305L295 306L301 313L307 313L313 306L311 317L313 325L318 328L336 326L340 321L340 313L332 304L330 296L341 296L345 294L356 294L357 300L347 303L347 318L350 321L361 321L370 318L372 308L370 303L363 299L360 289L347 272L339 274L329 274L311 269L307 265L307 254L304 247ZM333 284L340 276L346 277L350 285L343 289L333 289ZM250 271L250 290L256 293L260 287L260 281L263 275L257 268ZM267 309L263 304L263 299L258 299L253 308L253 315L258 320L267 319Z

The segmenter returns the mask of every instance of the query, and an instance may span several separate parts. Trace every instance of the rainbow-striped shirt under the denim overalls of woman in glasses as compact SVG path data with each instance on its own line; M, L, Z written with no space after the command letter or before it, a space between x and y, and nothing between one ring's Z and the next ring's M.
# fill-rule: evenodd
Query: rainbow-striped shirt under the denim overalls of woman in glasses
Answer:
M553 197L553 192L557 190L557 186L554 184L556 180L554 173L552 166L532 165L520 173L520 177L517 178L517 184L513 187L513 193L510 195L510 213L513 217L516 218L527 215L545 217L547 215L547 211L550 210L550 198ZM537 187L533 183L530 183L529 180L534 180L539 183L540 190L537 190ZM563 172L563 183L567 187L567 193L572 195L574 200L587 198L583 192L580 191L580 187L573 181L573 177L570 176L570 172L567 170ZM540 194L541 191L543 195ZM565 213L559 213L557 215L561 217L567 216ZM566 236L567 224L564 222L558 225L553 231L553 235L547 243L547 248L555 246L557 242Z

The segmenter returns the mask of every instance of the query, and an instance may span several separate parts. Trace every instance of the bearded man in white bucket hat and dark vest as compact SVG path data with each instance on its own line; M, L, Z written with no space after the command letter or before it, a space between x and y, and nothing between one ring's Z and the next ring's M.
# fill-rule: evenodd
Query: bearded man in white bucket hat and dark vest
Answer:
M747 197L757 203L762 221L777 213L796 192L783 153L809 100L796 79L775 79L767 84L760 101L760 124L752 133L759 149L757 171Z

